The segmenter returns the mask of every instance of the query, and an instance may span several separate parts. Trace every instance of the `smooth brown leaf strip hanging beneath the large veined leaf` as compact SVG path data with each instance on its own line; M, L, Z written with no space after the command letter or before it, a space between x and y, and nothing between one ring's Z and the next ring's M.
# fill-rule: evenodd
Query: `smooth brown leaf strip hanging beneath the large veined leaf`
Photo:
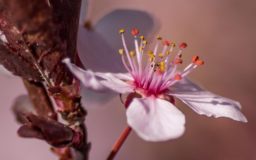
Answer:
M44 85L41 82L33 82L24 79L23 83L37 115L57 121L57 114L54 111L53 104L48 97Z

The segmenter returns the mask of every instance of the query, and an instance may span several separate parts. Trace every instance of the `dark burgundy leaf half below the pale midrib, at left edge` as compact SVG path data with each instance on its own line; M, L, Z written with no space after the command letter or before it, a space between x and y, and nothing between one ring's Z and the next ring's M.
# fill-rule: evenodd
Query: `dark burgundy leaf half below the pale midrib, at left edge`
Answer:
M33 81L43 81L37 69L0 40L0 64L16 76Z

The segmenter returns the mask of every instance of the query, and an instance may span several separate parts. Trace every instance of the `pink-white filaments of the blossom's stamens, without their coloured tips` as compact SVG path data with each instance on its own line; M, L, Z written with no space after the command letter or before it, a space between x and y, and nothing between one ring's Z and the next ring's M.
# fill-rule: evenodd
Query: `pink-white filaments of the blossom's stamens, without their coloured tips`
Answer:
M122 34L122 41L123 41L124 50L126 52L126 55L127 55L127 58L128 58L128 61L131 65L132 70L130 70L130 68L127 66L127 64L124 60L124 55L123 54L122 54L122 60L123 60L125 68L131 74L134 81L137 83L138 87L144 88L148 92L151 92L151 93L154 92L154 93L159 94L162 91L166 90L168 87L172 86L174 83L176 83L179 78L178 79L176 79L176 78L171 79L171 77L173 77L173 74L177 69L177 64L174 64L174 60L180 58L179 54L181 54L183 48L179 49L177 55L175 56L175 58L172 60L172 62L169 65L168 65L168 61L170 59L170 54L167 55L167 57L164 60L166 69L162 70L164 68L160 68L158 66L159 63L161 62L162 58L159 58L159 60L157 62L158 64L154 63L156 55L157 55L158 45L159 45L159 39L158 39L158 41L156 43L156 46L155 46L155 49L154 49L154 52L153 52L153 55L155 56L155 58L152 59L152 62L150 62L151 56L148 58L147 65L146 65L146 67L144 68L144 71L143 71L143 69L142 69L142 57L143 57L145 44L143 45L143 49L139 48L138 41L136 39L136 35L134 36L134 38L135 38L134 39L134 45L135 45L137 60L135 59L134 56L130 57L130 54L129 54L128 49L127 49L126 44L125 44L124 36ZM143 44L143 40L141 40L141 45L140 46L142 46L142 44ZM173 48L174 48L173 46L170 48L171 52L172 52ZM163 50L162 50L162 55L163 56L165 55L166 50L167 50L167 45L164 45ZM154 63L153 67L151 67L151 63ZM190 63L183 71L181 71L179 73L180 77L183 78L188 73L193 71L197 67L197 65L194 65L194 64L195 63L193 63L193 62ZM155 66L155 65L157 65L157 66ZM161 65L164 65L164 64L161 63ZM153 69L157 69L157 70L153 72ZM167 74L168 74L168 76L166 76Z

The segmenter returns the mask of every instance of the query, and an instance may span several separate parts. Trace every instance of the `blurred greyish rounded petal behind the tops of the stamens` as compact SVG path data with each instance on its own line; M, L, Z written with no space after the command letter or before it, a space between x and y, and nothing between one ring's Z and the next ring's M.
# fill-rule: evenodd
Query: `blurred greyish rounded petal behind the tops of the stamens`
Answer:
M124 29L125 42L128 49L135 50L134 37L131 34L131 30L134 28L138 29L138 36L145 36L145 40L150 42L153 35L160 28L159 26L156 27L158 24L159 23L156 23L156 20L153 19L152 15L146 12L140 10L117 9L99 19L94 29L95 32L99 33L115 51L123 48L119 30ZM140 39L138 38L138 40Z

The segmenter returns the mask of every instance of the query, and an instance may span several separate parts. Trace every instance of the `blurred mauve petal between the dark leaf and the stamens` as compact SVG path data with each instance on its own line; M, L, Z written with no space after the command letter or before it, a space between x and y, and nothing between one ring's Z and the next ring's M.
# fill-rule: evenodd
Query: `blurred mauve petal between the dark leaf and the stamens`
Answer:
M121 41L121 36L119 40ZM120 47L122 45L119 49ZM100 34L88 31L81 25L78 29L77 49L86 69L94 72L127 72L118 49L112 49Z

